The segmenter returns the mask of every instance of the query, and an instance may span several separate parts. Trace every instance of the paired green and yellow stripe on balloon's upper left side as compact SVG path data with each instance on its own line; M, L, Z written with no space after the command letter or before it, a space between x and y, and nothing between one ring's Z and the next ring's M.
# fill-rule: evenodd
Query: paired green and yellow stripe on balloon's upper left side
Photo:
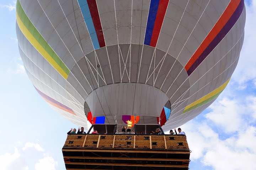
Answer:
M26 13L24 12L20 1L16 4L17 24L21 32L35 49L65 78L68 78L70 70L66 67L59 56L53 51L43 36L34 27Z

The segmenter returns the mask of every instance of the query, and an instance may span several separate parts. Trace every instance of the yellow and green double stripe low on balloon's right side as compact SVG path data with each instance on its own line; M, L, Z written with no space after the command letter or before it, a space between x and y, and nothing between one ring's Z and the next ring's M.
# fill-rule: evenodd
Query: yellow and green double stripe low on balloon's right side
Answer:
M215 98L217 98L221 92L225 89L225 87L228 85L230 78L228 79L228 81L226 81L223 85L221 85L220 87L218 87L217 89L213 90L212 92L210 92L209 94L205 95L202 98L199 98L197 101L191 103L190 105L188 105L187 107L185 107L184 111L182 112L182 114L187 113L193 109L196 109L200 106L203 106L206 103L209 103L210 101L213 101Z

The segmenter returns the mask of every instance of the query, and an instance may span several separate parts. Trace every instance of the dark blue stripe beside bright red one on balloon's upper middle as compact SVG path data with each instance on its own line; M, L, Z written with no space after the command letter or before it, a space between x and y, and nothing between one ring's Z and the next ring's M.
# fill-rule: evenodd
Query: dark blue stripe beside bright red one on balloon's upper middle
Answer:
M147 22L147 26L146 26L146 33L145 33L145 40L144 40L145 45L150 45L152 32L153 32L153 28L155 25L156 13L158 11L159 1L160 0L151 0L150 1L148 22Z

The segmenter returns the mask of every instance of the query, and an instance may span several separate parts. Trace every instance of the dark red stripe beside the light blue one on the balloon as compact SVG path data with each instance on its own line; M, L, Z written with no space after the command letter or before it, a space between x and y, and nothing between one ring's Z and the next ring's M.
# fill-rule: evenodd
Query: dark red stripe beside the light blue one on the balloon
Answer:
M105 47L105 39L101 27L101 22L100 22L100 16L98 13L98 7L96 0L87 0L91 17L92 17L92 22L94 23L94 28L97 34L98 42L100 44L100 47Z

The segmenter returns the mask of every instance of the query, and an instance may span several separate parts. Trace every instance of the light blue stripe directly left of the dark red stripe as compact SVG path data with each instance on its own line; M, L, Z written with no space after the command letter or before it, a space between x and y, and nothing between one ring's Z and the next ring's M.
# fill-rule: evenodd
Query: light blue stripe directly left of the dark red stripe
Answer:
M79 6L81 8L82 15L84 16L84 20L87 26L87 29L89 31L89 34L91 36L92 44L94 46L94 49L99 49L100 44L98 42L97 34L94 28L94 24L92 22L91 13L89 10L89 6L86 0L78 0Z

